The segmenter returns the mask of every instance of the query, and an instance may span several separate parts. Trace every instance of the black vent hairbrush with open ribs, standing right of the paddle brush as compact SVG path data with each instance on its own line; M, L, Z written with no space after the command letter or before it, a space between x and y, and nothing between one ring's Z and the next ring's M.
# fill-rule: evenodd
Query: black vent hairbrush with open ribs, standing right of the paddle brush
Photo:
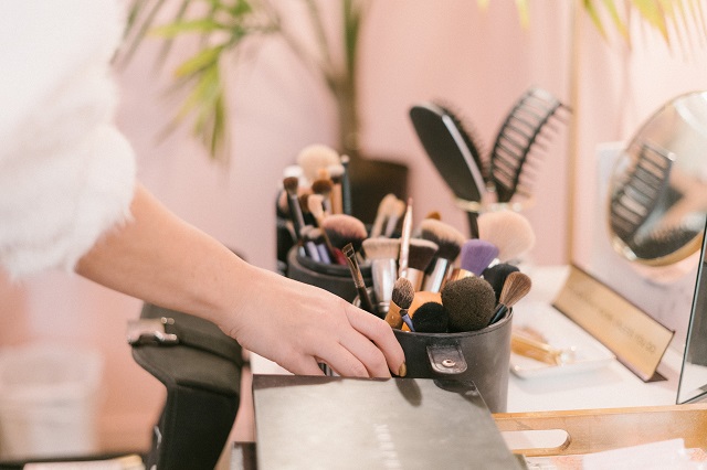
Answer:
M508 202L516 194L530 195L527 181L528 157L546 128L552 128L551 118L568 109L549 92L530 88L516 102L500 127L490 152L490 179L498 202Z

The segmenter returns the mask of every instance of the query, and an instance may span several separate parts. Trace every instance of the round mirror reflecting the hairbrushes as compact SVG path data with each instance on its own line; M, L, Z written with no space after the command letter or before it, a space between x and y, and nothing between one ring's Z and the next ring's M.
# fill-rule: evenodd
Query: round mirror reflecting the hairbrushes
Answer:
M707 92L658 109L619 158L610 182L614 249L668 266L699 250L707 213Z

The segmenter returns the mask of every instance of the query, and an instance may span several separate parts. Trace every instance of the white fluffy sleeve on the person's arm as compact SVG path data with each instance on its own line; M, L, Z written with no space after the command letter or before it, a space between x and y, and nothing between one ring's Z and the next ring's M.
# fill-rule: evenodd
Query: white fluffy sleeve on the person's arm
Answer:
M113 125L113 0L0 2L0 264L73 269L129 217L134 153Z

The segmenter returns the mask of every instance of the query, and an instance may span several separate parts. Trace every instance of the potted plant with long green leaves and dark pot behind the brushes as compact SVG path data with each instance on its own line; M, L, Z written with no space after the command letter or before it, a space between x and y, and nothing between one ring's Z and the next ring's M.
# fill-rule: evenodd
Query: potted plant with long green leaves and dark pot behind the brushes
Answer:
M338 2L341 26L337 36L327 35L328 10L320 10L316 0L298 0L297 3L306 12L309 29L305 32L309 41L302 36L303 22L293 24L292 20L288 21L283 3L277 1L180 0L169 3L165 0L133 0L119 58L129 60L148 32L163 42L162 57L169 54L176 39L199 36L201 42L197 53L175 71L178 85L188 90L177 120L191 117L192 132L204 142L209 154L215 160L226 160L229 117L225 99L230 89L222 67L223 58L226 55L232 58L254 41L283 40L336 102L336 148L350 159L354 215L363 222L372 222L378 203L386 193L405 197L408 168L392 161L366 158L361 151L357 54L370 3L365 0ZM175 8L171 20L157 24L158 13L168 6ZM288 7L292 8L293 3ZM307 46L310 43L316 47Z

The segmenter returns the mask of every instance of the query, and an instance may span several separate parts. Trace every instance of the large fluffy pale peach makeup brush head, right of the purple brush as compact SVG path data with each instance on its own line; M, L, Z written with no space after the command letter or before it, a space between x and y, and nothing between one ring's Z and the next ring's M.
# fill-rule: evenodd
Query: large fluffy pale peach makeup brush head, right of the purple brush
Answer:
M515 211L484 212L478 216L478 237L498 247L498 260L518 259L535 246L530 221Z

